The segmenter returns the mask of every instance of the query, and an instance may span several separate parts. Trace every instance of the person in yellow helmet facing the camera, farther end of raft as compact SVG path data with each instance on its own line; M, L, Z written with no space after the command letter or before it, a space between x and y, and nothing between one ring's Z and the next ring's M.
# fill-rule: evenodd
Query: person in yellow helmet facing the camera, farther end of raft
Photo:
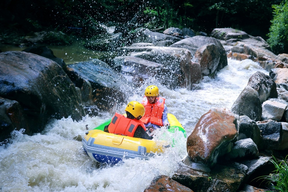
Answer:
M167 106L165 99L159 97L159 89L155 85L150 85L145 89L145 96L142 104L145 108L145 114L141 121L145 124L146 130L153 130L165 126L169 128L170 123L167 119Z

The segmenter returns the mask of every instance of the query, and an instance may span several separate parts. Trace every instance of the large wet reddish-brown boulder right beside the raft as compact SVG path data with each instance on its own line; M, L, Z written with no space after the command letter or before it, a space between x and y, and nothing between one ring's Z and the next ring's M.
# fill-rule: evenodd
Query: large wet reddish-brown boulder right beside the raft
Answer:
M238 138L237 119L226 108L213 108L201 116L187 138L191 161L214 166L217 158L228 153Z

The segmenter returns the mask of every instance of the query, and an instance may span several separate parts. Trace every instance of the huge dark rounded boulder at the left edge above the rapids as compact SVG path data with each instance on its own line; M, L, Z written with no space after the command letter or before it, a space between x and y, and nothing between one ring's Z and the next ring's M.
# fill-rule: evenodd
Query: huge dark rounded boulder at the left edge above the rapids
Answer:
M0 96L20 103L32 132L41 131L52 117L80 120L85 116L72 81L59 64L45 57L0 53L0 84Z

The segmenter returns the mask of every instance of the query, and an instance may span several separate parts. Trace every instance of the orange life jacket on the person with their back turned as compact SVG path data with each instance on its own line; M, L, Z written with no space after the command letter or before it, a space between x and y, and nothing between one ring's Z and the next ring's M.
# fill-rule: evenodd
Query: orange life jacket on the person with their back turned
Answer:
M115 113L108 126L109 133L122 134L133 137L136 128L140 125L145 129L145 125L142 121L137 119L129 119L122 114Z

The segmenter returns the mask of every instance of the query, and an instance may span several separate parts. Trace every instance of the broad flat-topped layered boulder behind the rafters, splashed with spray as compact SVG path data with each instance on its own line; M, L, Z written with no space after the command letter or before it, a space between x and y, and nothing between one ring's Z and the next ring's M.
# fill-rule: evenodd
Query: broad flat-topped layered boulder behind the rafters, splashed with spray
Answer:
M191 52L187 49L130 46L124 47L123 52L125 56L114 58L114 67L120 67L121 74L131 82L153 77L171 89L190 90L202 78L200 65L191 62Z

